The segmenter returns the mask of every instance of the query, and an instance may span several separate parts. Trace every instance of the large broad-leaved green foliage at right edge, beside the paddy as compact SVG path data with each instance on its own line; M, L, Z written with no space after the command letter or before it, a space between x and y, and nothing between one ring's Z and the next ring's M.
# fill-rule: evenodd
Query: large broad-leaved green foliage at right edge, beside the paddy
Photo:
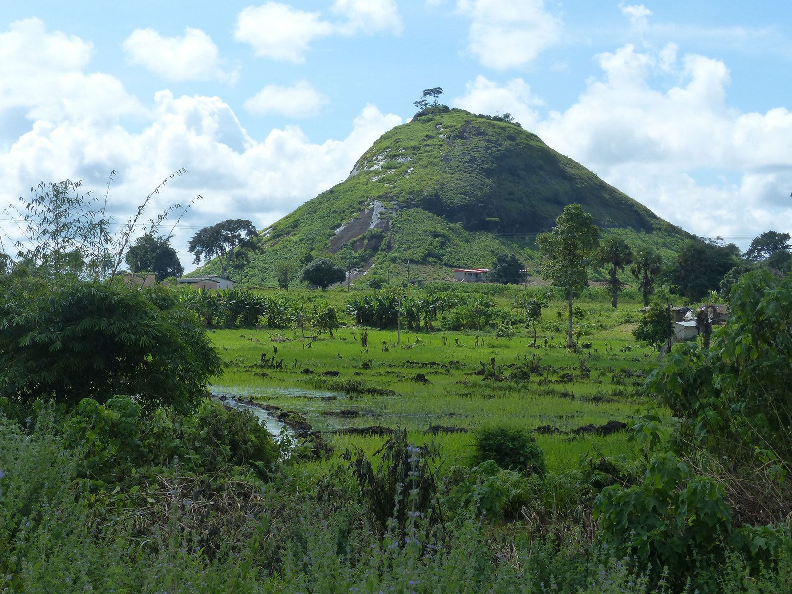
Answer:
M735 285L729 318L709 356L676 346L648 387L687 419L687 439L731 459L767 459L781 474L792 459L792 276L748 273Z

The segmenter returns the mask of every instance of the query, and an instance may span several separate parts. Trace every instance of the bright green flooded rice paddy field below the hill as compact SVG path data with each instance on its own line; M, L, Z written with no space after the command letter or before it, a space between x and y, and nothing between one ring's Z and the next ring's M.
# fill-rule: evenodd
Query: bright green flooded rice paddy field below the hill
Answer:
M322 297L341 308L347 294ZM509 295L496 301L508 307ZM597 452L630 456L619 425L597 428L609 421L629 426L649 411L667 414L642 393L657 353L632 334L641 303L623 300L613 310L596 291L577 301L583 329L577 352L564 346L565 319L557 313L563 307L561 300L550 303L535 347L532 329L521 327L513 337L442 330L402 330L399 337L350 323L333 337L212 329L227 363L212 391L230 406L252 406L275 434L321 432L334 456L353 446L371 453L383 444L384 430L406 428L413 443L434 440L449 463L463 463L476 428L485 425L534 429L551 468Z

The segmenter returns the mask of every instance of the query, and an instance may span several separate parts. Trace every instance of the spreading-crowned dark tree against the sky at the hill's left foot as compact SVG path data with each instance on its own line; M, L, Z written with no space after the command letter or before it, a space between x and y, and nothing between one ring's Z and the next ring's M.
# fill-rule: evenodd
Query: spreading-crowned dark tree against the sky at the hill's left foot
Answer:
M246 261L245 249L256 247L256 227L246 219L228 219L204 227L190 239L189 252L195 254L194 262L208 262L217 258L220 263L220 276L225 276L228 265L236 258Z

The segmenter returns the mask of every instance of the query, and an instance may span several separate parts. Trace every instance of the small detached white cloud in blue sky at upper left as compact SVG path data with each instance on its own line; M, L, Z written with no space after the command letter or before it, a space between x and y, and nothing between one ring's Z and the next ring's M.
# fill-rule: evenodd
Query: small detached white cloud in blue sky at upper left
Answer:
M221 67L217 45L200 29L166 37L154 29L135 29L122 44L130 63L168 81L219 80L234 83L237 70Z

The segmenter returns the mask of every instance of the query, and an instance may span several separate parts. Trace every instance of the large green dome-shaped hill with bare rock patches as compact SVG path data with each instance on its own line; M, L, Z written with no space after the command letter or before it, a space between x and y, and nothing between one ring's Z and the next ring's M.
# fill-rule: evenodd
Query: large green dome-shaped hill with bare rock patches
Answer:
M687 237L519 124L439 106L387 131L345 181L263 230L264 251L230 276L272 285L279 262L328 256L426 279L488 267L497 253L530 267L535 234L574 203L634 247L676 250Z

